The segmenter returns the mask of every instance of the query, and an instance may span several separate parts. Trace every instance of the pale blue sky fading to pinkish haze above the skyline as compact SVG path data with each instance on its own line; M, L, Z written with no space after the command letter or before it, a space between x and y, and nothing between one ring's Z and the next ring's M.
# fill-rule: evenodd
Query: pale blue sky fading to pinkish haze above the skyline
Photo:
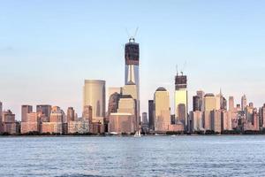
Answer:
M196 90L265 103L265 1L1 0L0 101L52 104L81 115L85 79L124 85L128 35L140 43L140 109L155 89L170 91L176 65ZM185 65L186 63L186 65Z

